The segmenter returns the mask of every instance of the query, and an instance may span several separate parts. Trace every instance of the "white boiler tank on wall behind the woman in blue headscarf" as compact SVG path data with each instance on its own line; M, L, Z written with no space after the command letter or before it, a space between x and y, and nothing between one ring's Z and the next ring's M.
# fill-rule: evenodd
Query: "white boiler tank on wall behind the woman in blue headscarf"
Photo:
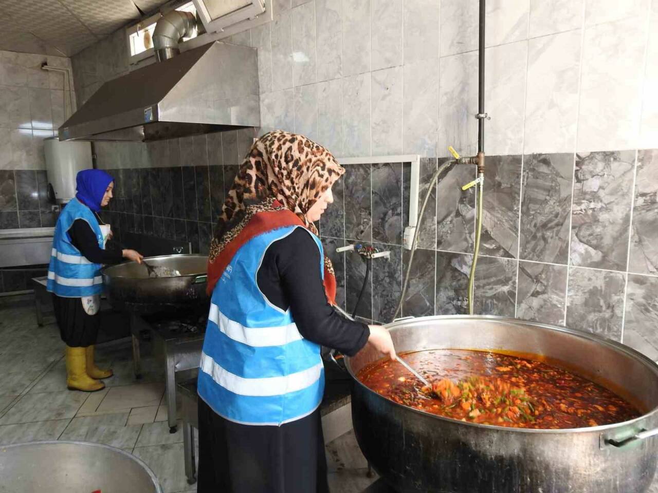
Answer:
M91 142L45 139L45 168L58 204L76 196L76 175L93 167Z

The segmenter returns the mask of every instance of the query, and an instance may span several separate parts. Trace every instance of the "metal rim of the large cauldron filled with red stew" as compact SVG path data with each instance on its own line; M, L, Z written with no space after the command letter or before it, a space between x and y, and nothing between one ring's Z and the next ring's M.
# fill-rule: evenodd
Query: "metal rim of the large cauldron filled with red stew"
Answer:
M638 352L637 350L634 350L630 346L626 346L624 344L621 344L620 342L617 342L615 340L611 339L606 339L605 337L601 337L599 335L595 335L592 333L588 332L582 332L582 331L576 331L574 329L568 329L567 327L561 327L557 325L550 325L547 323L541 323L541 322L536 322L536 321L525 321L517 318L510 318L510 317L501 317L501 316L495 316L495 315L435 315L435 316L428 316L428 317L411 317L411 318L404 318L404 319L399 319L397 321L392 321L391 323L387 323L384 325L387 330L392 330L392 329L397 329L400 327L405 327L409 323L417 322L417 321L426 321L426 320L436 320L436 319L441 319L441 320L447 320L447 319L475 319L475 320L497 320L497 321L505 321L508 323L512 323L513 325L531 325L533 327L540 327L542 329L550 329L553 331L557 332L563 332L567 333L570 335L574 335L576 337L582 337L584 339L589 339L594 342L597 342L599 344L603 344L606 346L611 346L615 350L618 350L620 352L623 352L627 354L628 356L632 358L636 358L637 360L640 360L647 366L651 367L653 370L653 373L656 374L658 377L658 364L651 360L650 358L647 358L647 356L644 356L644 354ZM457 425L464 425L468 427L476 427L476 428L482 428L482 429L488 429L488 430L495 430L495 431L507 431L510 433L542 433L542 434L563 434L563 433L590 433L590 432L603 432L603 431L609 431L609 430L614 430L614 429L619 429L622 427L629 427L632 426L636 423L640 423L640 421L644 421L645 419L649 417L653 417L658 414L658 407L653 408L653 410L644 413L640 415L639 417L636 417L635 419L630 419L628 421L622 421L620 423L612 423L610 425L599 425L599 426L593 426L593 427L584 427L584 428L563 428L563 429L532 429L532 428L513 428L513 427L505 427L505 426L498 426L498 425L486 425L483 423L470 423L469 421L461 421L460 419L454 419L451 417L445 417L441 416L438 414L433 414L429 413L427 411L422 411L416 408L411 408L409 406L405 406L403 404L399 404L395 402L394 400L390 400L374 390L372 390L370 387L367 385L363 384L359 379L357 379L356 375L352 371L352 365L351 365L351 356L345 356L345 368L347 369L347 372L349 373L349 376L352 377L352 379L355 381L357 385L360 385L363 387L365 390L370 392L371 394L374 394L377 398L380 398L384 400L385 402L388 402L392 404L393 406L396 406L398 408L401 408L406 411L413 411L415 413L424 415L424 416L429 416L432 417L433 419L438 419L440 421L446 421L447 423L455 423ZM639 431L639 430L638 430Z

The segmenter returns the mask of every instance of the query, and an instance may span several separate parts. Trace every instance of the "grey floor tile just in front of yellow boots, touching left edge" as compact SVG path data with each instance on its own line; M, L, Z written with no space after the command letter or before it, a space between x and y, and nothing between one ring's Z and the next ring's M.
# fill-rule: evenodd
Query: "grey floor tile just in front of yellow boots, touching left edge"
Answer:
M0 419L0 425L74 417L88 396L72 390L26 394Z

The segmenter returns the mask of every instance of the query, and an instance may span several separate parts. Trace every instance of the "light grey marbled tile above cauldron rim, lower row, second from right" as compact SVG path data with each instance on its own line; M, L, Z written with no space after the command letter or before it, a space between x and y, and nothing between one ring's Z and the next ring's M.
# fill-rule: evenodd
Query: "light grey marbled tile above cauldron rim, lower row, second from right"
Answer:
M619 341L625 283L622 272L570 267L567 327Z

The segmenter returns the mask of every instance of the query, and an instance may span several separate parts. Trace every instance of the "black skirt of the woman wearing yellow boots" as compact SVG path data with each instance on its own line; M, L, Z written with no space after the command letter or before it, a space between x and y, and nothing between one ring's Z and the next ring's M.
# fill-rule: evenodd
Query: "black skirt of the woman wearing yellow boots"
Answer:
M88 315L82 306L82 298L63 298L53 294L55 319L59 335L72 348L91 346L96 343L101 314Z

